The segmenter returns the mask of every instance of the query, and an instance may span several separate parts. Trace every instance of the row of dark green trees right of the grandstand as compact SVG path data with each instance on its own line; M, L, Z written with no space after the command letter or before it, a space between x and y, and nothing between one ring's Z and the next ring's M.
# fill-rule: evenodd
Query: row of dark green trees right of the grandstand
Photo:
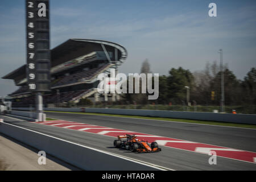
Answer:
M145 60L141 73L151 73L150 64ZM147 100L147 94L124 94L131 104L174 104L186 105L187 88L191 105L220 105L221 71L217 61L207 63L203 71L171 68L168 75L159 76L159 97ZM225 105L256 105L256 69L251 68L243 80L224 66Z

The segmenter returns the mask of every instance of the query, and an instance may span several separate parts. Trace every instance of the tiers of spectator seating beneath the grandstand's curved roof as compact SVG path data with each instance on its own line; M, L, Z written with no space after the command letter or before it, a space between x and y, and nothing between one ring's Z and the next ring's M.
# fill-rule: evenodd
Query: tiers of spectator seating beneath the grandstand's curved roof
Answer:
M85 57L82 57L81 60L72 60L68 61L65 64L61 64L54 69L52 69L51 72L59 72L63 71L64 69L69 69L73 67L73 65L81 65L85 62L89 63L90 61L93 61L93 57L96 57L96 52L93 52L90 55L86 55ZM110 67L110 63L100 63L97 64L97 68L90 69L89 67L85 67L84 69L80 69L80 71L77 71L75 73L72 73L71 75L63 75L55 80L52 80L52 89L58 88L59 86L65 86L68 84L74 84L76 82L81 81L90 81L93 77L97 76L100 72L105 71L105 69L108 69ZM14 107L30 107L35 106L35 95L31 92L27 92L27 85L20 86L18 90L11 93L10 96L21 96L24 94L27 94L27 96L18 98L18 100L13 101ZM69 91L69 92L60 92L59 96L56 91L53 91L51 94L46 94L43 96L43 102L44 105L46 104L56 104L56 103L65 103L69 101L77 102L80 100L81 97L85 95L90 95L90 93L93 94L93 88L90 89L84 89L84 90L78 90L78 91Z

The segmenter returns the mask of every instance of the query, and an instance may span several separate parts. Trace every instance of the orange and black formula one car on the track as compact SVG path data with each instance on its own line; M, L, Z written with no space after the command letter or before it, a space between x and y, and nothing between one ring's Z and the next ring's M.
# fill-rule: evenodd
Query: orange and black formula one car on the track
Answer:
M125 148L131 152L159 152L161 148L158 148L158 143L152 142L148 144L144 140L139 140L135 135L118 136L117 140L114 140L114 147Z

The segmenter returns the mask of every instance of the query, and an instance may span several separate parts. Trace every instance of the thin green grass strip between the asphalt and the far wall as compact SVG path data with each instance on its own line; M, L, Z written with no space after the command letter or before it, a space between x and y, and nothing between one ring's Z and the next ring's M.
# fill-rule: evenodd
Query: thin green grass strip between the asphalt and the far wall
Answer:
M139 115L119 115L119 114L102 114L102 113L81 113L81 112L67 112L67 111L45 111L50 113L70 113L70 114L85 114L85 115L102 115L102 116L113 116L122 118L139 118L139 119L153 119L161 121L175 121L175 122L185 122L185 123L199 123L205 125L218 125L218 126L232 126L232 127L245 127L250 129L256 129L256 125L241 124L241 123L224 123L217 121L201 121L192 119L176 119L176 118L159 118L159 117L144 117Z

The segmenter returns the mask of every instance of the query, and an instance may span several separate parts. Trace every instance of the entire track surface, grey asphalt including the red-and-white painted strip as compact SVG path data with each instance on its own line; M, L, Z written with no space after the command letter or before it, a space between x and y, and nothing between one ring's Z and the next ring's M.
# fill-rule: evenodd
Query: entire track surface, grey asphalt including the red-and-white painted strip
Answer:
M4 119L13 125L174 170L256 170L255 129L70 113L47 113L47 117L57 120ZM125 134L158 142L162 151L137 154L114 148L113 140ZM216 152L217 164L209 164L210 151Z

